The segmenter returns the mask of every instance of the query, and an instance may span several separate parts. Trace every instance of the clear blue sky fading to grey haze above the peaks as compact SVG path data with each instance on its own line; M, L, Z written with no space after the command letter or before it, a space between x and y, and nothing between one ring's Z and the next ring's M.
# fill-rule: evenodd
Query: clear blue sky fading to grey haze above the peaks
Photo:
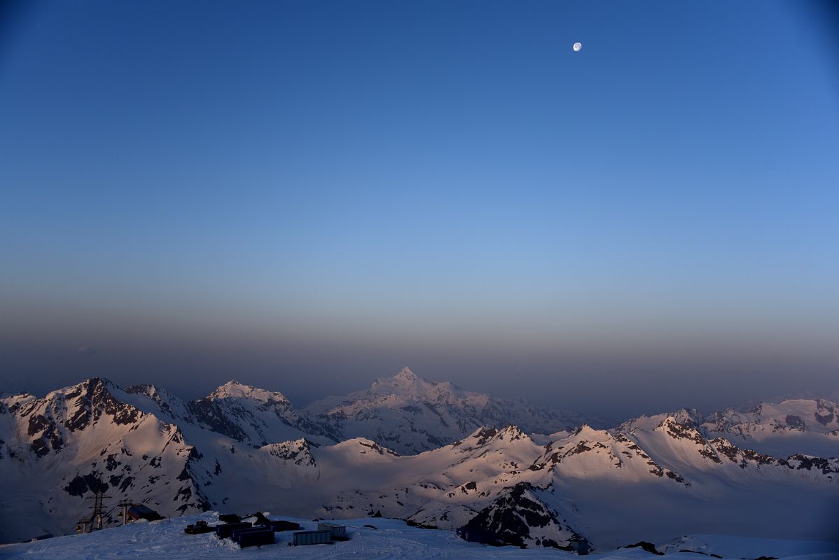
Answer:
M837 397L837 15L4 3L0 391Z

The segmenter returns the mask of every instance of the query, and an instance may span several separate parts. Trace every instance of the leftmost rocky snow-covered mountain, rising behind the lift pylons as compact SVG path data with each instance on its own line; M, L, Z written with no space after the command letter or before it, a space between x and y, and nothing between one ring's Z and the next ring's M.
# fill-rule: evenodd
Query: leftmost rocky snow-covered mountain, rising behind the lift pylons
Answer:
M32 531L32 520L41 531L70 530L98 488L166 515L208 507L191 477L198 454L180 428L125 400L128 393L98 378L42 399L4 399L11 433L0 436L3 506L18 515L4 524L3 540Z

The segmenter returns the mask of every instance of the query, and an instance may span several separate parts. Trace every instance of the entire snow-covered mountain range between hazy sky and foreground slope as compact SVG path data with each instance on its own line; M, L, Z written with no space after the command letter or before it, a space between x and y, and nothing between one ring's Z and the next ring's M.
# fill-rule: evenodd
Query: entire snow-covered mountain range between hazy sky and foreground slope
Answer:
M236 381L188 402L94 378L0 397L0 542L72 532L96 490L164 516L379 512L528 547L696 532L823 539L839 514L837 457L839 406L825 400L609 428L407 368L302 410Z

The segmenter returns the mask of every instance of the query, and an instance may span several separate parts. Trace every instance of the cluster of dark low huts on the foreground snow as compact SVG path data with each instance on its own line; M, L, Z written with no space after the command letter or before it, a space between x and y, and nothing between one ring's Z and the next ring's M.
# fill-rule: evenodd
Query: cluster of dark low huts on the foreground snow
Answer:
M274 533L277 531L294 531L291 544L295 547L347 540L347 527L336 523L319 522L315 531L300 531L299 523L269 520L262 514L253 517L255 521L242 521L241 517L233 514L221 515L218 517L221 522L216 526L198 521L187 526L184 531L190 535L215 532L216 537L230 538L242 548L274 544Z

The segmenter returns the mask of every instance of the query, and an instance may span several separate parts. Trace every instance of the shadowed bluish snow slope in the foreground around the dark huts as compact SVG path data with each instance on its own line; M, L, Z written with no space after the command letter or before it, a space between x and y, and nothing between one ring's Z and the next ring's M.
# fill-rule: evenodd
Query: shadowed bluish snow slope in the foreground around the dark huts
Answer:
M138 522L88 535L0 546L2 558L451 558L493 560L495 558L576 558L572 552L553 548L488 547L466 542L451 531L427 530L407 526L404 521L363 518L344 521L347 542L329 545L291 547L292 532L276 533L276 543L263 547L239 548L229 539L220 540L212 533L187 535L184 527L198 520L216 522L216 513L185 516L172 520ZM300 522L303 529L315 529L315 521L285 518ZM373 528L374 527L374 528ZM818 541L786 541L720 535L693 535L672 542L656 543L665 557L685 560L711 554L723 558L798 558L800 560L836 560L839 544ZM685 552L696 551L696 552ZM591 560L642 560L659 558L641 548L619 549L589 555Z

